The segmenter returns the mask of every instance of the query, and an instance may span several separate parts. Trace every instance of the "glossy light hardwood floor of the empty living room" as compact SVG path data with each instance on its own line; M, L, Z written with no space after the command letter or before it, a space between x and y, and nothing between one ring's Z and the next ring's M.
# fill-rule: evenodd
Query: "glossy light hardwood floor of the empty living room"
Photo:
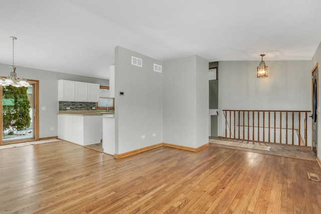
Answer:
M0 150L0 213L320 213L315 161L210 144L122 159L59 141Z

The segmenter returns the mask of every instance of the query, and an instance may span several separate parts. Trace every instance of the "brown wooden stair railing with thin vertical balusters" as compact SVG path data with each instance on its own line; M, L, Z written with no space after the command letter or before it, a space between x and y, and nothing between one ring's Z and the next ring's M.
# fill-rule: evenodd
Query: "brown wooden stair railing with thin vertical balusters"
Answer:
M310 111L223 110L223 137L307 146L307 113Z

